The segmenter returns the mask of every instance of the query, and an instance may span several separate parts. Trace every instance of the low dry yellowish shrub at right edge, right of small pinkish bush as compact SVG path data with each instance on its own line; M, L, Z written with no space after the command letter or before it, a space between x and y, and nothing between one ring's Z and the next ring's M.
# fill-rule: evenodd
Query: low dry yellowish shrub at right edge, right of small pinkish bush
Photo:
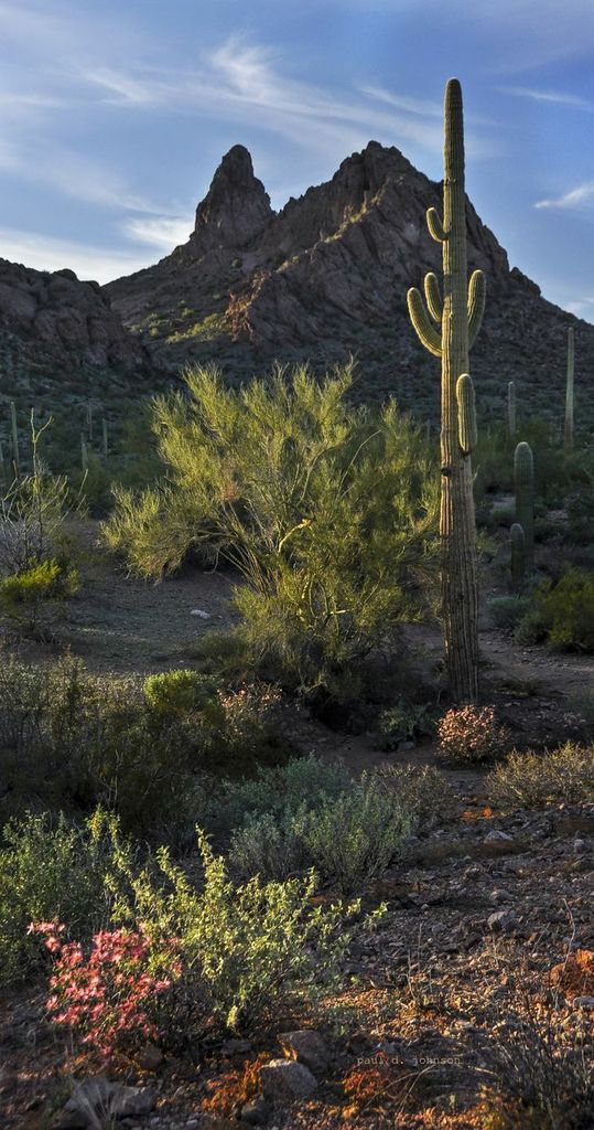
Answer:
M489 774L487 786L489 796L506 808L594 800L594 746L568 741L544 754L514 750Z

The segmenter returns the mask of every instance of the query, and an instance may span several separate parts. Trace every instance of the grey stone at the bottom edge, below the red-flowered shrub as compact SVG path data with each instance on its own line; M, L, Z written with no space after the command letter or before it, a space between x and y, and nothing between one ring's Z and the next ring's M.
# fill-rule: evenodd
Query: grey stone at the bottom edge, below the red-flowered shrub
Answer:
M98 1119L150 1114L157 1096L150 1087L126 1087L103 1076L84 1079L65 1103L55 1130L90 1130Z

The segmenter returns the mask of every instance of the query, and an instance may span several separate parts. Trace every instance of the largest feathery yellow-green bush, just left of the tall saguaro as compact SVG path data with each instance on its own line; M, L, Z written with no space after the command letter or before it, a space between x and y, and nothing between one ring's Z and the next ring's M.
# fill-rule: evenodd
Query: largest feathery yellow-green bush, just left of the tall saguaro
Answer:
M190 550L230 563L233 629L253 669L295 688L329 686L403 620L433 607L437 477L393 402L347 401L349 367L322 383L234 391L213 370L160 398L154 427L167 478L120 490L107 545L160 577Z

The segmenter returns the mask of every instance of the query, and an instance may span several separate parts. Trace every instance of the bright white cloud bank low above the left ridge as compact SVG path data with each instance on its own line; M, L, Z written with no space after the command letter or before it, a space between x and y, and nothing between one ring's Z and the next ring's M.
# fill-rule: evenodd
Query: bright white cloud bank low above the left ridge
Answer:
M17 228L0 228L0 255L40 271L69 267L80 279L95 279L102 284L140 270L151 261L150 254L142 255L141 252L114 251Z

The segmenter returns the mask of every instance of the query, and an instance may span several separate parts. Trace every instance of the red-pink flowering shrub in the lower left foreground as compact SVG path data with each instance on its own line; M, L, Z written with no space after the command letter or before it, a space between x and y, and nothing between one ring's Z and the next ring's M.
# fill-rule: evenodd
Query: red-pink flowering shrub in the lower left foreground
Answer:
M152 966L146 935L102 930L94 936L85 959L80 942L62 939L64 930L59 922L29 927L30 933L43 936L53 958L46 1002L53 1023L72 1028L102 1060L108 1060L117 1046L134 1038L154 1040L157 1032L150 1019L151 1006L181 971L175 956L164 972L164 967Z

